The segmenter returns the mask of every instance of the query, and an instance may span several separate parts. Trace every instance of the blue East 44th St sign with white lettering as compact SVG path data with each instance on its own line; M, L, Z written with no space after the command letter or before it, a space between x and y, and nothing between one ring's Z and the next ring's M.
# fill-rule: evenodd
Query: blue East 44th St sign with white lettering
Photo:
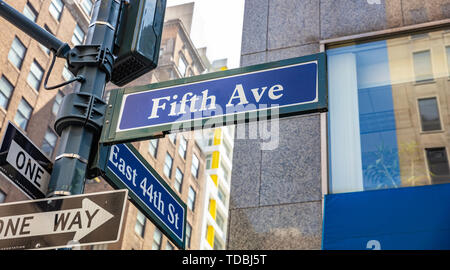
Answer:
M108 149L106 180L116 188L127 188L139 210L184 249L186 204L131 144L116 144Z

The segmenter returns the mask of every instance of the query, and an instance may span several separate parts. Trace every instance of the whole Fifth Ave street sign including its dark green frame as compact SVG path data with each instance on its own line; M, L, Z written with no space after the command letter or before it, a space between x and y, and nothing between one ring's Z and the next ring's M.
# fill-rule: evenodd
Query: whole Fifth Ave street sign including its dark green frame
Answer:
M102 143L326 110L325 55L111 91Z

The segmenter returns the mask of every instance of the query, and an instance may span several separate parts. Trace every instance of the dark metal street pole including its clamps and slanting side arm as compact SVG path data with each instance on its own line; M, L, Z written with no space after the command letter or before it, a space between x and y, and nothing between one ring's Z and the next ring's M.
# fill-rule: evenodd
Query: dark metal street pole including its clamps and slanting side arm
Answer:
M67 43L0 0L1 17L54 51L56 56L67 58L69 68L74 68L71 66L73 61L78 66L71 70L83 77L75 93L64 98L55 122L55 130L61 139L48 197L82 194L84 191L91 147L96 148L103 123L99 107L105 105L103 92L111 79L112 51L121 3L121 0L96 0L85 45L70 49Z

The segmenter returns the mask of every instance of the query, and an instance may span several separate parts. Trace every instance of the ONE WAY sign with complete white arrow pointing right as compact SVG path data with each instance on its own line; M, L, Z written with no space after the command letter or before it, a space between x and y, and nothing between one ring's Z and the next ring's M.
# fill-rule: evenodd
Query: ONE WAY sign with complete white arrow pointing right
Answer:
M119 238L127 190L0 205L0 250L56 248Z

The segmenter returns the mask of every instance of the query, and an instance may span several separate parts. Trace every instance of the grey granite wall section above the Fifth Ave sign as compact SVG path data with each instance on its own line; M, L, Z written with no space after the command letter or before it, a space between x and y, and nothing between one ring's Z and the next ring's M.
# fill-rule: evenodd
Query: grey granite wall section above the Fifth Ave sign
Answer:
M450 18L450 0L246 0L241 65L319 50L320 40Z

